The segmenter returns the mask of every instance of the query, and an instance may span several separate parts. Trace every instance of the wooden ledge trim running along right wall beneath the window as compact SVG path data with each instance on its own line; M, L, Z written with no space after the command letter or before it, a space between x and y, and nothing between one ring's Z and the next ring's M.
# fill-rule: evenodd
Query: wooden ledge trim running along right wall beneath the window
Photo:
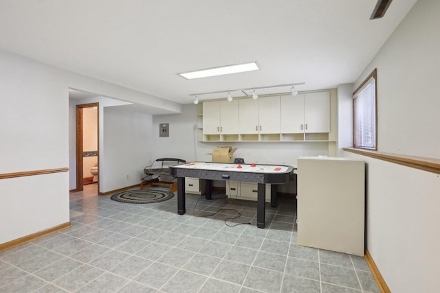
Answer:
M421 169L426 172L440 174L440 159L423 158L421 156L406 156L404 154L389 154L386 152L375 152L373 150L362 150L357 148L342 148L342 150L353 152L354 154L360 154L362 156L369 156L373 159Z

